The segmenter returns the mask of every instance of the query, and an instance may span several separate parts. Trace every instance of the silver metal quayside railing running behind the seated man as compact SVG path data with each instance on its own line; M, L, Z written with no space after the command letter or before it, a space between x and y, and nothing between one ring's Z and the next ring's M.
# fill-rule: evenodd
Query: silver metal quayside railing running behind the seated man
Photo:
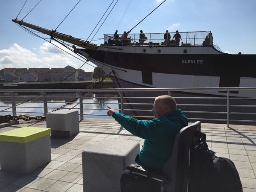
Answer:
M175 98L191 122L256 125L256 97L231 96L238 91L256 93L256 87L0 90L0 115L44 116L64 108L79 110L80 119L106 118L106 106L111 105L130 116L152 119L155 96L166 94ZM213 92L221 95L212 95ZM92 104L96 107L91 108ZM92 110L98 113L88 113Z

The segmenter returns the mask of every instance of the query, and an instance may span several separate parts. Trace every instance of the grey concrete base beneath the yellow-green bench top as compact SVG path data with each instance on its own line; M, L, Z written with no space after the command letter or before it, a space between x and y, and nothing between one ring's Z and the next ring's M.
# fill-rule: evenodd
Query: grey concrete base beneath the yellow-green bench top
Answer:
M1 170L28 174L50 161L50 135L28 143L0 141Z

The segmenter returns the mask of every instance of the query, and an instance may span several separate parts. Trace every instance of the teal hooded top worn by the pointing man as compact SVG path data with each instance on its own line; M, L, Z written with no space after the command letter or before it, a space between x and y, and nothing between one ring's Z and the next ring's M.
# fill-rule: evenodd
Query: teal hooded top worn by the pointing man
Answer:
M180 109L149 121L137 120L117 112L112 116L131 134L145 139L139 153L140 164L157 171L162 170L163 164L171 156L177 132L188 125Z

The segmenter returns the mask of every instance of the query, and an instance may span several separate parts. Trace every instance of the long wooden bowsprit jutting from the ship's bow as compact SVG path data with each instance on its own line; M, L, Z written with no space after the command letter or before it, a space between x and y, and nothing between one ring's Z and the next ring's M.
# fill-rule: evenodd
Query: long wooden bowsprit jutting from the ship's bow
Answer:
M44 33L46 35L49 35L51 38L57 38L59 40L66 41L70 44L74 44L74 45L77 45L77 46L85 48L85 49L98 49L98 47L99 47L98 45L92 44L88 41L83 41L81 39L74 38L70 35L65 35L65 34L59 33L57 31L44 29L42 27L35 26L35 25L29 24L29 23L26 23L26 22L23 22L23 21L20 21L20 20L17 20L17 19L13 19L12 21L21 25L21 26L26 26L30 29L34 29L35 31L38 31L38 32Z

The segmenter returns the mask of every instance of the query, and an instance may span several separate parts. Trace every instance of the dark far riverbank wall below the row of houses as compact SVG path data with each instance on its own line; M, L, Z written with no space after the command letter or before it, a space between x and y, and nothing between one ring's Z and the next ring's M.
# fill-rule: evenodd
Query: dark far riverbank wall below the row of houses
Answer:
M29 82L5 85L0 84L0 89L107 89L115 88L112 81L63 81L63 82Z

